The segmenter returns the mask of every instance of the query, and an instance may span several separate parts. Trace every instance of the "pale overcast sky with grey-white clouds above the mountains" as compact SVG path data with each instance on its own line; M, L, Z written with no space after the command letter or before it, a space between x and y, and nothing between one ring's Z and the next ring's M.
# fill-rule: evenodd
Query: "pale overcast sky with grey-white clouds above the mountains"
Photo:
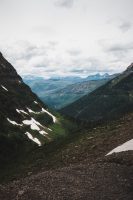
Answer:
M21 75L116 73L133 62L133 0L0 0L0 50Z

